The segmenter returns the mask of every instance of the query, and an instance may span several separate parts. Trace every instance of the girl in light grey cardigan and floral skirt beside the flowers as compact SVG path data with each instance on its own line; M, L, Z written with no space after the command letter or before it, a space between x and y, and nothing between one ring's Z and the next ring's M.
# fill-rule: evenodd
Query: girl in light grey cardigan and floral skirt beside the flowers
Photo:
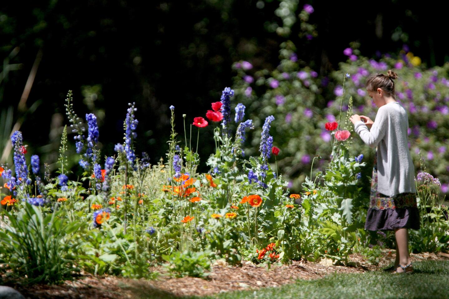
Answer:
M366 90L379 108L376 118L372 121L354 114L349 119L363 142L377 147L365 229L394 230L396 261L392 269L396 273L411 273L407 229L419 229L419 211L408 147L409 119L395 100L393 80L396 78L397 74L391 70L388 75L371 75L366 81Z

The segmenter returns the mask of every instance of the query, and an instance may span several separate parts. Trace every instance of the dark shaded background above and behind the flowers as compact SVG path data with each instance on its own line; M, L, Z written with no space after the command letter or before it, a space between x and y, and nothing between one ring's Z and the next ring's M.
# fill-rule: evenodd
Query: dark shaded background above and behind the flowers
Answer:
M4 2L0 59L19 47L9 63L22 68L5 72L3 67L0 108L13 107L14 121L23 120L20 130L29 151L54 163L62 126L69 124L64 110L69 89L80 117L96 113L104 155L113 155L114 144L123 142L128 102L136 102L136 152L148 152L155 162L167 149L170 105L176 107L176 129L182 133L183 113L190 124L232 85L234 61L251 61L255 69L277 66L279 44L286 39L265 30L264 23L280 22L274 14L279 2L264 1L262 9L257 2ZM296 24L290 39L299 59L322 76L346 60L343 49L351 42L360 43L363 56L397 53L407 44L427 66L449 61L441 33L447 27L447 10L441 4L300 1L299 8L305 3L315 9L309 23L316 24L318 37L299 39ZM42 59L26 99L27 108L36 102L37 108L26 113L18 103L38 53ZM205 131L204 138L210 132ZM196 128L193 136L196 141ZM211 144L204 143L200 155L208 155L213 147L212 139L204 140Z

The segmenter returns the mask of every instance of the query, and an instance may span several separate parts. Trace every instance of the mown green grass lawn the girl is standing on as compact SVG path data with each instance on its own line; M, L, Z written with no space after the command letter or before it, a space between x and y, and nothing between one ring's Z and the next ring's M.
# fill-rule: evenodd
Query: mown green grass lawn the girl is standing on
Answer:
M172 297L169 294L141 295L149 298L183 299L396 299L449 298L449 261L428 260L414 262L413 274L393 275L382 271L362 274L333 274L318 280L299 280L289 285L259 290L236 291L207 297Z

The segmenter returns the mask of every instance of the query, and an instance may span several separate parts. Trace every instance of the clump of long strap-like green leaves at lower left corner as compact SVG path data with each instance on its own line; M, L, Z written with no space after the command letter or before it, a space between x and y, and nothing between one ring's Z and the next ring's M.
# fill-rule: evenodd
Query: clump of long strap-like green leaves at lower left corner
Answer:
M12 270L7 277L27 277L26 283L59 283L79 271L73 267L71 249L77 244L73 233L82 223L68 221L58 205L54 209L48 213L25 203L17 214L3 212L10 221L0 232L2 269Z

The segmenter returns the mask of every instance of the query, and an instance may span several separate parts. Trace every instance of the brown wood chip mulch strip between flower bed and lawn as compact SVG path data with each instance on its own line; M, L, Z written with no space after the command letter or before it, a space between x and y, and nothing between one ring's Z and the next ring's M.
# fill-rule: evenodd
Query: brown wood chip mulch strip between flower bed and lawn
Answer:
M412 254L415 260L449 260L449 254ZM318 279L333 273L363 273L382 269L395 259L394 251L384 251L379 265L366 263L360 256L350 257L352 267L335 266L331 260L320 263L296 261L289 265L273 265L270 269L245 263L241 267L214 264L208 279L195 277L170 278L160 275L157 280L132 280L113 276L86 276L66 281L59 286L13 286L29 299L125 299L125 298L183 298L212 295L232 290L249 290L280 286L297 279ZM164 273L162 269L158 269Z

